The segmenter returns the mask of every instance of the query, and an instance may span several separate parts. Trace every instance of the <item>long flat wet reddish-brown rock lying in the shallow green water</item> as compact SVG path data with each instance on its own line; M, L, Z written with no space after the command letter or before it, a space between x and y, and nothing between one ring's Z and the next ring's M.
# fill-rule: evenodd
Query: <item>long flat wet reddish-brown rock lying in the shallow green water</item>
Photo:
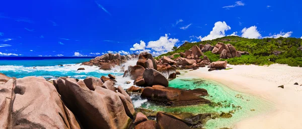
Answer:
M200 92L200 93L198 93ZM194 105L201 103L209 103L210 101L199 97L207 95L205 89L183 90L172 87L145 87L141 93L142 97L148 100L162 103L165 105Z

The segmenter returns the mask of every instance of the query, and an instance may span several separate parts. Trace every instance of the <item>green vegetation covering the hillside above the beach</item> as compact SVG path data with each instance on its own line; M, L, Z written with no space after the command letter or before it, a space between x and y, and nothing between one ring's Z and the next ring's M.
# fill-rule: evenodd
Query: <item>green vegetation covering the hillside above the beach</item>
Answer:
M168 56L173 53L185 52L193 45L209 43L215 45L217 42L225 44L230 43L237 50L248 51L250 55L242 55L241 57L220 59L228 60L230 64L256 64L269 65L272 63L288 64L289 66L302 66L302 39L292 37L279 38L263 38L263 39L248 39L239 36L225 36L213 40L200 41L195 43L184 43L174 51L159 55ZM211 51L204 52L211 61L217 61L219 54L213 54Z

